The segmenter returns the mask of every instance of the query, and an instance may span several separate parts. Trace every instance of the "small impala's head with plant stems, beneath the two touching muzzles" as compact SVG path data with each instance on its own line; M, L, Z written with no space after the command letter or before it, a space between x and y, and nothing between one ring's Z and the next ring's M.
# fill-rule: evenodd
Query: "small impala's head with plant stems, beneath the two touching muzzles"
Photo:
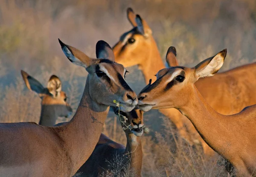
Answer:
M116 115L118 115L118 108L114 111ZM125 125L122 124L122 128L124 128L125 133L133 133L135 136L142 136L143 134L143 111L138 109L133 109L130 112L123 112L120 111L120 114L122 116L125 116L128 120L124 122ZM121 120L124 121L124 119L121 116ZM127 128L129 126L129 128ZM125 128L127 128L125 130Z

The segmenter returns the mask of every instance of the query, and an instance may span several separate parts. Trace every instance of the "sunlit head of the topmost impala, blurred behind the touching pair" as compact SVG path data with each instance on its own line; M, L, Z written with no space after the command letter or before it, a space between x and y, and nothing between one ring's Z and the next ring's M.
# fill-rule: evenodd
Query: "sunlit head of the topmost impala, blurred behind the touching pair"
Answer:
M133 29L125 32L113 47L116 62L131 67L145 62L154 42L152 31L140 15L135 15L131 8L127 9L127 18Z

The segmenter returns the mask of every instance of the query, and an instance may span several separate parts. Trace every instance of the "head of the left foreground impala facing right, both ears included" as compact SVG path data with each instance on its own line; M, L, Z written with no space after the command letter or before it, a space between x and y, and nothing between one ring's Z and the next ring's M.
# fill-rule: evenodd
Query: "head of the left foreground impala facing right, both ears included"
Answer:
M138 103L137 95L125 82L126 69L115 62L111 47L105 41L96 44L96 59L89 58L78 49L61 42L61 48L74 64L84 67L88 92L97 104L116 107L113 100L123 106L123 111L131 111Z

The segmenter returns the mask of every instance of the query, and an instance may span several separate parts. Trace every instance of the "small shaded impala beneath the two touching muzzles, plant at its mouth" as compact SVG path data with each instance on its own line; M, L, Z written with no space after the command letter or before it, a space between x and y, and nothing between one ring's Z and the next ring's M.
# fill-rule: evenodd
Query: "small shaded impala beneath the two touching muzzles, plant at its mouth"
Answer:
M118 115L118 110L115 113ZM93 154L81 166L77 176L96 177L104 171L114 170L110 163L116 156L122 158L120 167L123 168L122 171L127 170L124 166L131 165L129 176L141 176L143 152L140 136L143 134L143 111L132 110L126 113L121 111L120 114L128 119L125 123L120 122L127 138L126 147L101 134ZM130 127L127 128L129 125Z

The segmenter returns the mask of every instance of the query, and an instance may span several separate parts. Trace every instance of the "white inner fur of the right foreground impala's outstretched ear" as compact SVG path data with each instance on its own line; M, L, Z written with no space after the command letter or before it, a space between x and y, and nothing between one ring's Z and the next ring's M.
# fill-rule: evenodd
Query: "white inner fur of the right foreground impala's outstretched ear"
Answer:
M223 57L221 55L216 55L209 64L207 64L203 69L196 72L196 75L198 78L203 78L207 76L214 75L215 71L218 71L221 69L222 65L224 63Z

